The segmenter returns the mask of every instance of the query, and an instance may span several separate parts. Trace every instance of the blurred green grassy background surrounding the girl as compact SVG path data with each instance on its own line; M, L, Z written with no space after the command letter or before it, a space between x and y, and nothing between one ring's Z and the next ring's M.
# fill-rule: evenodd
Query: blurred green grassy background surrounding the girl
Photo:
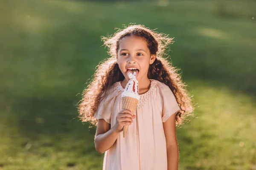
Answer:
M76 104L108 57L100 36L143 24L194 95L180 170L256 170L256 1L1 0L0 169L101 170Z

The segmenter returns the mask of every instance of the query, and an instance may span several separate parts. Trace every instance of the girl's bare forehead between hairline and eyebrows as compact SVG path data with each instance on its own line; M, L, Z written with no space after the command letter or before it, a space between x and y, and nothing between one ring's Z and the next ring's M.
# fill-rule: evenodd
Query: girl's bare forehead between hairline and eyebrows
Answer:
M148 44L143 37L129 36L124 37L119 42L119 49L143 49L149 51Z

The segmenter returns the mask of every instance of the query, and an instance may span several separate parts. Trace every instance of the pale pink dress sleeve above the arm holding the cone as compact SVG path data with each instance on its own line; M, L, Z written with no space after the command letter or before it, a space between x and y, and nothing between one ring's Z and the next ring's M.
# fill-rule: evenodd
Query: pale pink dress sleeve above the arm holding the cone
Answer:
M94 114L95 119L104 119L106 122L111 124L111 115L113 110L113 105L115 102L115 97L113 94L105 96L100 102L97 111Z

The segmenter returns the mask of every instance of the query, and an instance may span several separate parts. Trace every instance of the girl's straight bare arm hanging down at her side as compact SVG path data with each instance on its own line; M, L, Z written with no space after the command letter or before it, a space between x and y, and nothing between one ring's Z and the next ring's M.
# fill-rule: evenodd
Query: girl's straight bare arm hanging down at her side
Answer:
M168 170L177 170L179 164L179 150L176 139L175 114L163 122L163 129L166 136Z

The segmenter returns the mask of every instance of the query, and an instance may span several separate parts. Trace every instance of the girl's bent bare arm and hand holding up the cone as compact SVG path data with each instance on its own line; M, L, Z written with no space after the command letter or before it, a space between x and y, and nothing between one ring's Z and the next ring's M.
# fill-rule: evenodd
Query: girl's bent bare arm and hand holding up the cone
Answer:
M124 125L131 125L136 116L131 115L131 111L122 110L116 116L116 124L111 128L111 125L104 119L99 119L96 135L95 135L95 149L99 153L104 153L111 148L116 142L116 139Z

